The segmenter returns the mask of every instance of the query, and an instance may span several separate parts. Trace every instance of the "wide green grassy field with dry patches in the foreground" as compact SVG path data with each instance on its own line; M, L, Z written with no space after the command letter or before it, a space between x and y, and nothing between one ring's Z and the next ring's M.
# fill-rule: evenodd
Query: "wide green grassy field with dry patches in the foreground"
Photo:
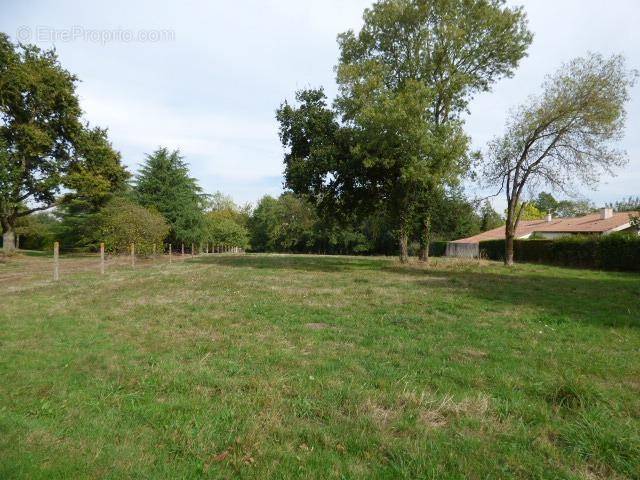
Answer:
M54 284L22 261L2 479L640 478L638 275L246 255Z

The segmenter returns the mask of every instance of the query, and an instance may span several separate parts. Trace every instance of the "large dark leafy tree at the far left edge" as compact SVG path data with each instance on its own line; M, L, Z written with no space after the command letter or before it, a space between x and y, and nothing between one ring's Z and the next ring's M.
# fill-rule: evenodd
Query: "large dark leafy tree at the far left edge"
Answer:
M20 217L51 208L83 130L77 78L53 50L0 33L0 224L4 249Z

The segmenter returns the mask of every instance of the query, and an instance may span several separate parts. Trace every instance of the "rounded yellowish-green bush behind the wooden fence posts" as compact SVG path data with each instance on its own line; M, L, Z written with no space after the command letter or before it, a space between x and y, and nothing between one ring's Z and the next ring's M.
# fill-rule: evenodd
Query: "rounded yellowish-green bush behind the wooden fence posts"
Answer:
M97 224L97 239L111 253L126 253L134 243L136 252L149 254L169 234L162 215L123 198L112 200L100 210Z

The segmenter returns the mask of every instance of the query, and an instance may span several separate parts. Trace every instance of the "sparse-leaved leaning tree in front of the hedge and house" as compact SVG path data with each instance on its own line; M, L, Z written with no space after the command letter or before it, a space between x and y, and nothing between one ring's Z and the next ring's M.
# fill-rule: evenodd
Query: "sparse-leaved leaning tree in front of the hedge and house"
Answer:
M625 102L636 73L622 56L590 54L564 65L543 93L516 110L507 132L489 145L486 182L507 198L505 264L513 264L513 239L527 202L525 187L539 185L570 193L597 183L601 172L624 165L612 143L623 133Z

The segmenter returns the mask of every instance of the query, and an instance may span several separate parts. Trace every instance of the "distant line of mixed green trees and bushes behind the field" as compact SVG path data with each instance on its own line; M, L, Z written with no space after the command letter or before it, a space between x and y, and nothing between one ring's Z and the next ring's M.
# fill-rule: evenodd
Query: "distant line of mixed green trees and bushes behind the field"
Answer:
M474 235L502 222L488 203L478 210L460 190L440 202L432 219L434 241ZM61 202L52 212L20 219L16 233L21 248L50 249L59 241L67 252L96 251L101 242L114 253L126 252L132 242L140 253L154 244L209 242L253 252L396 255L393 224L384 211L364 218L322 214L292 192L264 196L255 207L240 206L220 192L204 194L179 152L160 148L147 156L131 184L105 194L100 204L77 197ZM416 238L411 253L418 248Z

